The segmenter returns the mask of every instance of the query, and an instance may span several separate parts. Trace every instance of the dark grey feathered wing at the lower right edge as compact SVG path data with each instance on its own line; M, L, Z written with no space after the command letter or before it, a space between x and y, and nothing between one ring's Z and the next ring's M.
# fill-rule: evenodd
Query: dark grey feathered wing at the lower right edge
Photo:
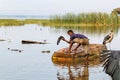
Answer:
M104 50L101 52L101 61L104 62L104 71L109 74L113 80L120 80L120 51Z

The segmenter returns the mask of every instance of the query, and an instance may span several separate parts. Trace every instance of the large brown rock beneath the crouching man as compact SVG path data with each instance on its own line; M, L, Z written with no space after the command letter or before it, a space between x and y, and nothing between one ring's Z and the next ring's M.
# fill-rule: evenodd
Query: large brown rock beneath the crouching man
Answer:
M73 46L74 48L75 46ZM54 54L52 55L52 60L57 60L57 61L72 61L75 58L84 58L86 57L86 54L84 51L78 51L76 54L74 53L66 53L65 49L60 49L58 51L55 51ZM81 49L81 48L79 48ZM78 50L79 50L78 49ZM88 47L87 53L89 54L89 59L92 60L95 56L99 56L100 52L102 50L106 50L106 46L102 44L90 44Z

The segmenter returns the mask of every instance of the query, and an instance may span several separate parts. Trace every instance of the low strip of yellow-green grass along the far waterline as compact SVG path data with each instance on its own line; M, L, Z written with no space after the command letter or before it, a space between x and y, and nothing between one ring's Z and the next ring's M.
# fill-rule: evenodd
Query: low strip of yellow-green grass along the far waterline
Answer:
M0 19L0 26L19 26L25 24L38 24L42 26L54 27L107 27L107 26L120 26L119 24L92 24L92 23L53 23L48 19Z

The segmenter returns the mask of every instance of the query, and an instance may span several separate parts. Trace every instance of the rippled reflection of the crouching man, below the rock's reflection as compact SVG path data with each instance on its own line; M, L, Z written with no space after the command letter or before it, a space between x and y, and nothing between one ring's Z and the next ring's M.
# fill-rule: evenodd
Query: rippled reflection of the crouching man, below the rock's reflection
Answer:
M64 68L63 68L64 69ZM85 65L66 65L66 72L57 71L58 80L89 80L88 64Z

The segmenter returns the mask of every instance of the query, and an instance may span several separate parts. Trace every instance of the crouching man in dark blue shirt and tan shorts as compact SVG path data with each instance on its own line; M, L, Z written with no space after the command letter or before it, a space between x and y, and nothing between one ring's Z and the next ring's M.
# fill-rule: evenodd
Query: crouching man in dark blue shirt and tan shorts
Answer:
M63 38L63 41L69 43L69 49L68 52L71 52L71 48L74 43L78 43L74 51L78 49L79 46L83 45L85 53L87 53L87 46L89 45L89 39L82 35L82 34L75 34L72 30L68 30L68 35L70 36L70 40L67 41L66 39Z

